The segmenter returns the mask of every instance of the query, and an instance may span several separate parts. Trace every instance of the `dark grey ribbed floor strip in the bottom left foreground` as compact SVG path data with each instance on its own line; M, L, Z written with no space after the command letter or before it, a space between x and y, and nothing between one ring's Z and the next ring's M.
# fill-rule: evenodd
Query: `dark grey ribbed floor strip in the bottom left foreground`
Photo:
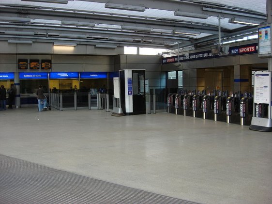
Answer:
M0 204L197 204L0 155Z

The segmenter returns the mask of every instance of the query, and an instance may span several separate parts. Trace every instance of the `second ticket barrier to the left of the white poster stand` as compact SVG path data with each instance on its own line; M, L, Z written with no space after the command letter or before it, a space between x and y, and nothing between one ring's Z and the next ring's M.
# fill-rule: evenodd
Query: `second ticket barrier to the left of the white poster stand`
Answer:
M238 111L237 104L239 104L239 98L234 96L227 97L226 111L227 111L227 123L239 123L240 112Z

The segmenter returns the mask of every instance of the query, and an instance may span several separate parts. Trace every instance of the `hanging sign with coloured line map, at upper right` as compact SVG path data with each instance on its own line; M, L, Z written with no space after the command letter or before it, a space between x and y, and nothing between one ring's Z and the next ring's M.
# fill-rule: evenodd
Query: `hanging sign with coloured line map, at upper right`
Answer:
M272 57L271 24L258 27L258 56Z

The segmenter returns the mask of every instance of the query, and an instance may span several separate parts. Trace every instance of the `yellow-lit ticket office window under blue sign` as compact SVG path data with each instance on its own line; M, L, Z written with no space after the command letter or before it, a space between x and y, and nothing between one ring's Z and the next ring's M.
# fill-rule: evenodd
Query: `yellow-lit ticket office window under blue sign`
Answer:
M50 79L49 80L49 89L57 90L72 90L79 89L78 79Z

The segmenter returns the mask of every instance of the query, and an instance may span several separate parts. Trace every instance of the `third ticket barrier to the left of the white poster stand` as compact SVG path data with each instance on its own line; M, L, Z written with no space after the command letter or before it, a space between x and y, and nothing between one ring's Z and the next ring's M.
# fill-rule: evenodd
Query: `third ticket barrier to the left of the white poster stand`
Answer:
M217 95L213 101L213 120L226 121L226 97Z

